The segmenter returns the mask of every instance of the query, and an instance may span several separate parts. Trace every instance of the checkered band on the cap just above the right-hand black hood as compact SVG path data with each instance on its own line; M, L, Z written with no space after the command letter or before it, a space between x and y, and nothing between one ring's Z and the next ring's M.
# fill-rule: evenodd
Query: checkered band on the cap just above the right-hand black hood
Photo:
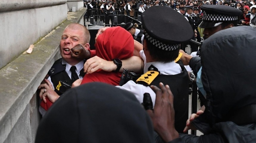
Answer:
M227 16L227 15L216 15L216 14L207 14L203 13L203 20L207 21L232 21L238 20L238 16Z

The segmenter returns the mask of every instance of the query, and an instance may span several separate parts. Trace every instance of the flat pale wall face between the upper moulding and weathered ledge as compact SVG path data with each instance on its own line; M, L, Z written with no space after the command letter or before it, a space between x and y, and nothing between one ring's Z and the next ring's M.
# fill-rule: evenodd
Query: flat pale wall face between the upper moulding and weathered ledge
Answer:
M2 1L1 1L2 2ZM1 3L0 2L0 3ZM67 4L0 12L0 68L67 20Z

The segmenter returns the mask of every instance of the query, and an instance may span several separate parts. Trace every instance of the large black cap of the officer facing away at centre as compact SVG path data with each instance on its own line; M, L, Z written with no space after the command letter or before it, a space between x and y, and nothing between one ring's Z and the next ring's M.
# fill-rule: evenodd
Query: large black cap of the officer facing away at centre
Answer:
M166 51L177 49L180 43L189 41L194 35L184 16L167 6L148 8L142 13L141 22L144 38Z

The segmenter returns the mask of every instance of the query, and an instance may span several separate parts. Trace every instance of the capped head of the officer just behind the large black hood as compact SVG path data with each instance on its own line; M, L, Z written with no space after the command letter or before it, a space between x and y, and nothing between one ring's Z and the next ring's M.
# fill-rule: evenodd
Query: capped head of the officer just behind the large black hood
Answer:
M242 11L225 5L202 5L203 21L199 28L205 28L204 39L218 32L219 30L237 26L238 16Z

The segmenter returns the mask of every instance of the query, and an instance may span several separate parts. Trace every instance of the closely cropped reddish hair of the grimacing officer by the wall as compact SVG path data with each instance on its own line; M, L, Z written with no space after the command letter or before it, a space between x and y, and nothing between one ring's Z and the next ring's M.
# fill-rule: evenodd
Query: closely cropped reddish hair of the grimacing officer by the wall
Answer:
M88 29L85 27L85 26L83 26L83 25L81 25L81 24L78 24L78 23L71 23L71 24L69 24L66 28L65 28L65 30L66 29L72 29L72 30L81 30L82 32L83 32L83 37L84 37L84 43L83 44L86 44L86 43L89 43L90 42L90 33L89 33L89 31L88 31ZM65 31L64 30L64 31Z

